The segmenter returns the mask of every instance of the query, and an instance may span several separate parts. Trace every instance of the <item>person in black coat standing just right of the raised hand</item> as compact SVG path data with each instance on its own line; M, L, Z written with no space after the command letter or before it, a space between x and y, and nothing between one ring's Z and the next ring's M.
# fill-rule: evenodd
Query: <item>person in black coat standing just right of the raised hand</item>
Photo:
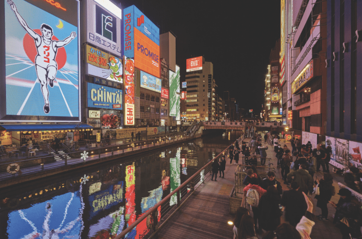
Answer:
M330 173L325 173L323 178L314 182L318 185L320 194L316 195L317 207L322 210L322 214L318 216L321 221L328 221L328 207L327 204L331 200L332 196L336 195L336 189L333 186L333 176Z

